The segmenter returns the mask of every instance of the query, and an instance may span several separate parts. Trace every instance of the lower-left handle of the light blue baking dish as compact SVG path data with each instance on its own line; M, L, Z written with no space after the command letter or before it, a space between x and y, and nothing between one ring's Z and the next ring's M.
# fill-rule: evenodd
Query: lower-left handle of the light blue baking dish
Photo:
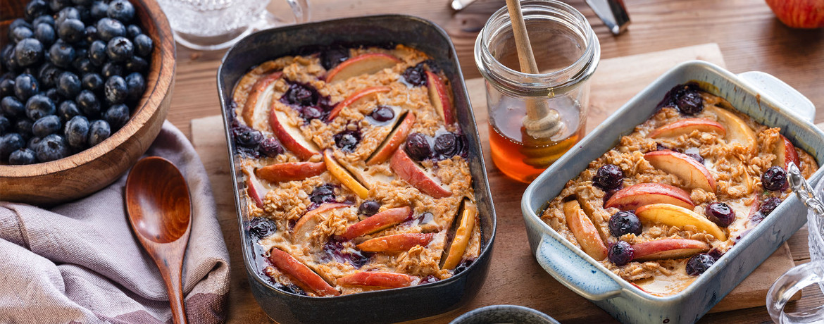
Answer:
M604 300L621 291L616 281L549 235L541 237L536 259L546 272L589 300Z

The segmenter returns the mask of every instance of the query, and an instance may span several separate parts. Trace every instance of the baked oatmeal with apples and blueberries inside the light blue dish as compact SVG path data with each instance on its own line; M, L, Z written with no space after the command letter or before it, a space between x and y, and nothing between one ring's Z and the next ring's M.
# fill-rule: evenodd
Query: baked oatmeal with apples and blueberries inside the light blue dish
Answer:
M817 163L695 82L567 182L541 219L622 279L678 293L790 195Z

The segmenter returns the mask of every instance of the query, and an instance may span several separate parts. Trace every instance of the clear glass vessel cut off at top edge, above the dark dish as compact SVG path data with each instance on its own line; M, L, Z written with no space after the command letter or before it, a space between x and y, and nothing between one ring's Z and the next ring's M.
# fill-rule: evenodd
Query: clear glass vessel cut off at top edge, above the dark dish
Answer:
M157 0L175 40L190 49L225 49L253 31L283 25L266 11L270 0ZM295 23L309 20L307 0L286 0Z

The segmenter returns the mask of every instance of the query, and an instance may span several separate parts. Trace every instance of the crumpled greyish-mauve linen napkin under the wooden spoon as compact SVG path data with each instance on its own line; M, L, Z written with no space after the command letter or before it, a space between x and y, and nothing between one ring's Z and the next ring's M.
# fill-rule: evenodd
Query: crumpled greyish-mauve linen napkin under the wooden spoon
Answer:
M229 256L203 163L168 121L146 155L175 163L189 185L192 228L183 263L189 322L222 323ZM160 271L129 226L125 184L124 174L52 209L0 202L0 323L171 322Z

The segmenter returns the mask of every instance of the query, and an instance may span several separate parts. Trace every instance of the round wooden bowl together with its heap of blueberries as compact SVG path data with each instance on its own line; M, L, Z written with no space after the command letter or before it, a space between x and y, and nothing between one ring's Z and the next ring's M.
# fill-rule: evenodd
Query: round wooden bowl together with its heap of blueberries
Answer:
M0 200L110 185L166 120L175 41L152 0L0 3Z

